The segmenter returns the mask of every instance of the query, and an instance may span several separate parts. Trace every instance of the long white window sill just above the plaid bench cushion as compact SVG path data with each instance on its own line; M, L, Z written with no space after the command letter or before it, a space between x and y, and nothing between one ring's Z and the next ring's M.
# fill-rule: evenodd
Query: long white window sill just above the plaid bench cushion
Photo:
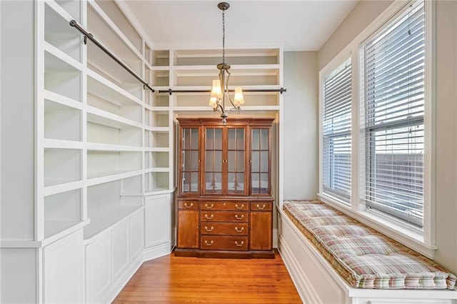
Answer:
M418 232L418 230L371 212L354 211L350 206L338 202L337 199L327 196L326 194L318 193L318 196L321 201L328 204L328 206L345 213L347 216L351 216L351 218L364 223L366 226L378 230L380 233L421 253L421 255L425 255L427 258L433 259L433 255L436 249L438 249L436 245L424 242L423 235Z

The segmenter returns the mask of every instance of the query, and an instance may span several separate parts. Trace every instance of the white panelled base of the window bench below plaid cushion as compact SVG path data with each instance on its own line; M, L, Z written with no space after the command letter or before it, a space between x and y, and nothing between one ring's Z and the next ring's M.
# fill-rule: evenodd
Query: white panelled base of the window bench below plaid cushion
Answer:
M283 211L278 211L278 250L306 304L457 304L457 290L352 288Z

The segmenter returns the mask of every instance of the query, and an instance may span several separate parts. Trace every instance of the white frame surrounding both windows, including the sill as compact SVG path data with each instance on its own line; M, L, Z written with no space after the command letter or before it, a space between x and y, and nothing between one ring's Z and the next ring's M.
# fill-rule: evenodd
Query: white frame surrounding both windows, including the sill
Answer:
M364 41L371 35L376 33L384 24L391 21L394 16L400 14L406 6L409 6L413 1L394 1L391 6L383 11L369 26L359 34L356 39L346 46L334 59L332 59L319 72L319 163L322 163L322 106L323 106L323 78L332 69L336 69L338 64L341 64L344 59L348 58L348 54L352 56L352 156L351 156L351 205L338 200L338 198L328 196L323 193L322 189L322 166L319 166L319 193L321 201L330 206L348 214L358 221L365 223L379 232L388 235L400 243L426 255L428 258L433 258L433 254L437 249L435 245L435 1L424 1L425 5L425 101L424 101L424 159L423 159L423 229L403 223L403 221L394 218L383 216L382 214L365 211L365 206L360 203L361 191L364 191L363 181L364 164L361 163L365 151L363 150L363 130L360 128L363 113L360 111L360 100L363 93L361 84L360 71L360 47ZM359 185L361 184L361 187Z

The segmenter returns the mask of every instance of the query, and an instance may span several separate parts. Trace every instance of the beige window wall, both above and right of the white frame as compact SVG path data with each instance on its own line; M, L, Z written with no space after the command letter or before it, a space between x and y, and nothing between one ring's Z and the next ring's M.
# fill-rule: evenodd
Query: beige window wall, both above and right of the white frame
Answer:
M318 51L328 64L392 1L361 1ZM457 273L457 1L436 1L435 260ZM286 157L286 156L285 156Z

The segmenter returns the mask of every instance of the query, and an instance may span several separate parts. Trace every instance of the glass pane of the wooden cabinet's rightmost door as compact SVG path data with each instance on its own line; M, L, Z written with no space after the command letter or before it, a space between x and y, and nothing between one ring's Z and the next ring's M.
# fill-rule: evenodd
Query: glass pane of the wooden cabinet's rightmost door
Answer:
M251 129L251 194L270 194L270 128Z

